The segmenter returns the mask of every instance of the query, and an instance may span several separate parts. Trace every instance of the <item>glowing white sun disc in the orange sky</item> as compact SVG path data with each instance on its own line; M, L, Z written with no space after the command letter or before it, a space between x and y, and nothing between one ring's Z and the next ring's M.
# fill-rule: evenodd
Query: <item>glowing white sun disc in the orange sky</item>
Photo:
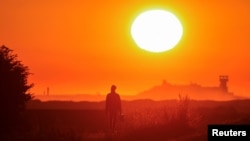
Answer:
M178 18L165 10L149 10L136 17L131 26L135 43L150 52L164 52L181 40L183 28Z

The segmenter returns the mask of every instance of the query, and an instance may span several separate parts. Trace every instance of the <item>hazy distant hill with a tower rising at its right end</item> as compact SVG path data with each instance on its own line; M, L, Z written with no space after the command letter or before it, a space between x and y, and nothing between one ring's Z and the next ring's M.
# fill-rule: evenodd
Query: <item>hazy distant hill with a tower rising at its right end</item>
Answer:
M241 98L229 91L228 75L219 75L219 85L202 86L191 82L188 85L170 84L166 80L161 85L154 86L138 94L138 98L151 98L155 100L176 99L178 94L188 95L192 99L234 99Z

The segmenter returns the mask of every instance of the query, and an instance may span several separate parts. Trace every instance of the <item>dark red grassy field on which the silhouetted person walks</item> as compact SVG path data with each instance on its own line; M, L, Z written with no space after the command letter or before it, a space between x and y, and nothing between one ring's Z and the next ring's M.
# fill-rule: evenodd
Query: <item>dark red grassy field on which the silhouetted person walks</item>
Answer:
M250 124L250 100L123 102L115 133L104 109L29 109L26 141L206 141L208 124Z

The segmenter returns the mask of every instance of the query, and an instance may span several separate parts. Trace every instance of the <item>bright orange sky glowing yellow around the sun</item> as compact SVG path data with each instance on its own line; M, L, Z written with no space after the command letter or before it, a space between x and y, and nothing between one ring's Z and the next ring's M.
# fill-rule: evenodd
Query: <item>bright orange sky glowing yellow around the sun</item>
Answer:
M163 79L217 86L249 95L248 0L1 0L0 45L30 68L34 94L136 94ZM181 42L164 53L136 46L130 26L137 14L164 8L182 22Z

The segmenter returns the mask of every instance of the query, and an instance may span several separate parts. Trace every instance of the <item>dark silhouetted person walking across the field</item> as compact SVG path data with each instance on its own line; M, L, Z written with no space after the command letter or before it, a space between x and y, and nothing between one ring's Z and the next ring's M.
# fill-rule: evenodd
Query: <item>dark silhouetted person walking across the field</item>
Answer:
M109 124L113 132L116 126L117 116L121 115L121 99L115 90L116 86L112 85L110 93L106 96L106 113L109 115Z

